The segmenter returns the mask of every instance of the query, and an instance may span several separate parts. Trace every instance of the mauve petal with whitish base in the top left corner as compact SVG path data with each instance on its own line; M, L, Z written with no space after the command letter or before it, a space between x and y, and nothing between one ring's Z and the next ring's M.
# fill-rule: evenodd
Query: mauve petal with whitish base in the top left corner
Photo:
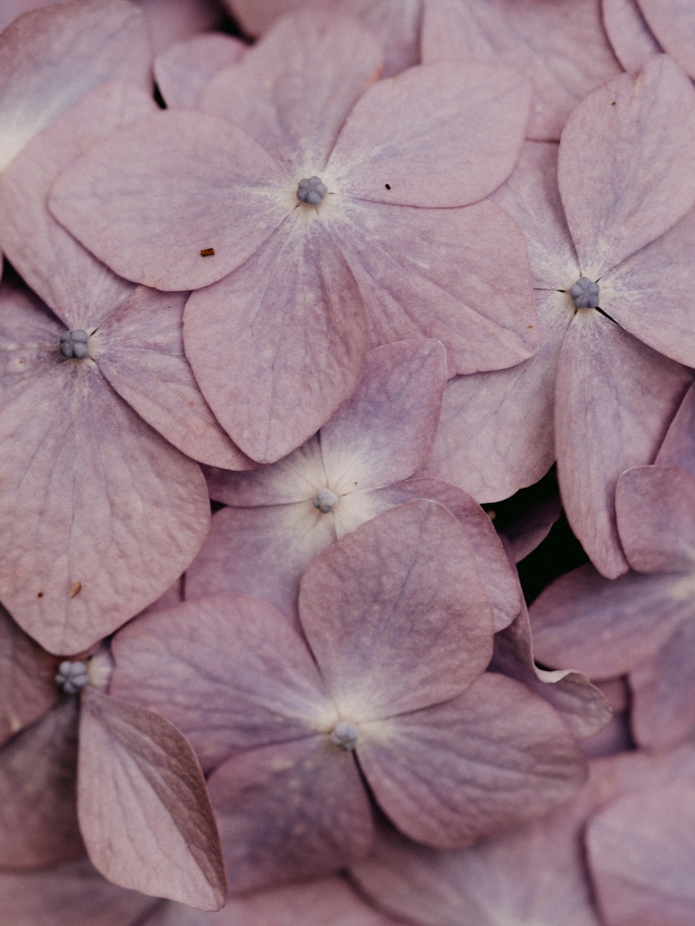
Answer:
M98 84L148 91L150 59L145 17L123 0L77 0L15 20L0 39L0 167Z

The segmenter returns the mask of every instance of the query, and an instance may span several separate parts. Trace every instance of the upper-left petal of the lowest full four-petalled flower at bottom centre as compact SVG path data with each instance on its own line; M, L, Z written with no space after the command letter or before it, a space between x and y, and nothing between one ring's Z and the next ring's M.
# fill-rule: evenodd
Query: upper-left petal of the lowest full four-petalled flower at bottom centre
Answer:
M112 652L109 693L175 724L206 772L248 749L330 732L338 720L306 644L255 598L218 595L136 619Z

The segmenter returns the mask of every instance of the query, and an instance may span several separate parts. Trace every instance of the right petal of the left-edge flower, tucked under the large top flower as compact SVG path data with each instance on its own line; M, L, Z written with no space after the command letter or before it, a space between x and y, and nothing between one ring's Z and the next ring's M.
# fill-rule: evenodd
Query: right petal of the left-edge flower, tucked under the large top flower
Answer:
M222 430L183 354L185 293L140 286L99 326L95 357L121 398L187 457L253 469ZM97 356L98 351L98 356Z

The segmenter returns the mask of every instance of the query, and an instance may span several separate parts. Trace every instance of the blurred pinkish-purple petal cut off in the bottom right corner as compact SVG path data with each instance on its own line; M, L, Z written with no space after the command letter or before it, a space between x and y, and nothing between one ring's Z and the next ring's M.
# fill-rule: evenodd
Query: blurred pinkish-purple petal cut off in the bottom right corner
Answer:
M590 820L588 864L606 926L688 926L695 784L624 795Z

